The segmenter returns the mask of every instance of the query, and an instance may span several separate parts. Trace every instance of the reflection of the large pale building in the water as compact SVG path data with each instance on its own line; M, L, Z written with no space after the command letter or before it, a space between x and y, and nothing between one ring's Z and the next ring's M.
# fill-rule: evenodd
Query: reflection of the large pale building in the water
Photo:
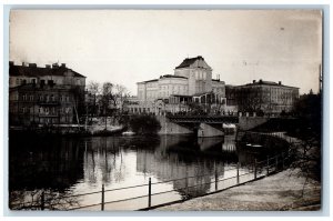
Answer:
M213 161L210 159L201 159L202 164L198 167L198 157L190 155L184 159L181 150L170 152L168 149L176 147L183 149L190 142L188 137L171 137L161 139L160 145L154 152L148 150L138 150L137 153L137 171L142 173L152 173L161 180L174 180L179 178L193 177L173 181L174 189L179 190L181 195L194 197L206 193L210 189L210 175L212 174ZM201 185L202 183L202 185ZM195 188L189 188L195 185Z

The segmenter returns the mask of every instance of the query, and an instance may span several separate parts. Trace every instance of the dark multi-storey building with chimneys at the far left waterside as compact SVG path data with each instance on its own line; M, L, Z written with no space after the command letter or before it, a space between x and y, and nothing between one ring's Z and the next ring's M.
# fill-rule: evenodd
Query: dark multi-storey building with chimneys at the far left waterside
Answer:
M85 77L65 64L9 66L10 125L77 123L84 101Z

